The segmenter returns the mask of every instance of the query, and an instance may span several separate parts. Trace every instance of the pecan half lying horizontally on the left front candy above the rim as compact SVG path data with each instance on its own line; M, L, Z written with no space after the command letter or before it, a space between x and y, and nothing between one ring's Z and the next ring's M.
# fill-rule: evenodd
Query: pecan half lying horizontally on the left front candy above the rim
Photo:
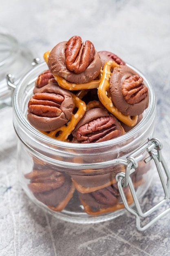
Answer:
M60 94L42 92L34 94L28 103L31 113L39 117L58 117L62 113L60 105L64 97Z

